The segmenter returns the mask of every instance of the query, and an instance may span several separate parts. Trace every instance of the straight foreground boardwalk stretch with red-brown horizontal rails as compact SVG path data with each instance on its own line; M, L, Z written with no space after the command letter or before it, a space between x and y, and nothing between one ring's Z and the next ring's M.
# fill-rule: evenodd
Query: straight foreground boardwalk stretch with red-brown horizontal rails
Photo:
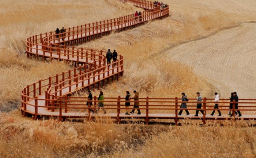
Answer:
M220 99L219 102L214 102L214 99L203 98L202 102L197 102L195 98L189 98L187 103L187 108L180 108L180 104L184 103L179 98L140 98L139 101L125 101L125 98L118 96L117 98L105 98L104 106L107 110L107 114L92 114L91 110L97 109L98 102L96 96L93 100L87 100L85 97L72 97L72 96L57 96L54 99L46 99L46 101L52 103L51 106L45 106L38 104L39 99L36 98L36 104L30 104L35 109L38 108L49 108L55 111L54 114L43 114L44 116L56 116L60 120L63 118L95 118L97 116L114 118L117 123L120 123L121 119L144 119L146 124L148 124L150 119L174 119L176 125L178 125L178 120L180 119L200 119L203 124L206 124L206 120L227 120L227 119L244 119L244 120L255 120L256 115L256 99L240 99L239 102L229 102L229 99ZM86 103L89 103L87 106ZM130 102L131 106L126 108L125 102ZM133 108L133 103L139 102L139 108ZM197 109L196 104L202 103L202 108ZM219 104L219 109L214 109L214 104ZM232 109L229 109L230 103L232 104ZM235 104L239 103L239 108L235 109ZM140 109L141 114L125 115L125 110L129 109ZM179 110L189 110L191 115L186 114L178 115ZM191 111L193 110L193 111ZM199 116L193 116L195 110L203 110L203 114ZM222 116L211 116L209 111L220 110ZM228 116L229 110L232 111L232 117ZM235 115L235 111L240 110L242 113L241 117ZM38 110L35 110L35 117L42 115Z

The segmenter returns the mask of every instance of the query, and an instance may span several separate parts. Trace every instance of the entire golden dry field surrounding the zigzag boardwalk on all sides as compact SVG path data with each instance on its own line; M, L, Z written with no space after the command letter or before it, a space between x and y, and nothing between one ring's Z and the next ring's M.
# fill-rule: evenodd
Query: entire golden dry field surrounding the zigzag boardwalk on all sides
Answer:
M26 37L140 9L116 0L0 1L0 157L256 157L255 121L208 121L202 127L187 120L174 127L23 117L22 88L72 68L27 59ZM213 98L217 91L227 98L237 91L256 98L255 0L163 3L170 5L169 17L79 46L124 56L124 76L105 86L104 96L136 89L141 97L186 92L195 98L200 91Z

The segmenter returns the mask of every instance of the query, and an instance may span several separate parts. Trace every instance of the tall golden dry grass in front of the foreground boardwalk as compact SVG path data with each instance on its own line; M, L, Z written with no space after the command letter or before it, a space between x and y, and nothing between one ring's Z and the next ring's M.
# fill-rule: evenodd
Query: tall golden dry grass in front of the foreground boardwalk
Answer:
M253 158L256 152L254 121L168 127L34 121L18 111L0 116L1 157Z

